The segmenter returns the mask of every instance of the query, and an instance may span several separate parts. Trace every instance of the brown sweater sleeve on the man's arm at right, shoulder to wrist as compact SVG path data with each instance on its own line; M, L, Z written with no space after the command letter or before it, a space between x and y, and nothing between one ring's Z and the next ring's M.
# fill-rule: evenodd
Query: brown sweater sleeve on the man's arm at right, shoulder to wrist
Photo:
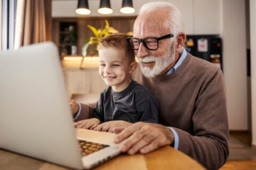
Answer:
M218 169L229 155L226 89L220 70L207 76L195 103L194 135L174 129L179 135L179 150L207 169Z

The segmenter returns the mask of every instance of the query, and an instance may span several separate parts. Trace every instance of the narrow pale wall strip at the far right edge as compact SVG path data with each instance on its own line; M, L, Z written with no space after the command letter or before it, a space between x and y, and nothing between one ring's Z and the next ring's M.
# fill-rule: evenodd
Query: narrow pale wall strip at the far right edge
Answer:
M256 146L256 2L250 0L252 145Z

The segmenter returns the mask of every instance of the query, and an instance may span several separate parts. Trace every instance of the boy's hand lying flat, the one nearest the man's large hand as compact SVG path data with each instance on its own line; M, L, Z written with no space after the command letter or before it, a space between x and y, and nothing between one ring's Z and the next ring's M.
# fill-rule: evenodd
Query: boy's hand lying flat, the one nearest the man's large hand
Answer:
M132 123L126 121L109 121L105 123L101 123L93 130L102 131L102 132L113 132L113 128L127 128L131 126Z

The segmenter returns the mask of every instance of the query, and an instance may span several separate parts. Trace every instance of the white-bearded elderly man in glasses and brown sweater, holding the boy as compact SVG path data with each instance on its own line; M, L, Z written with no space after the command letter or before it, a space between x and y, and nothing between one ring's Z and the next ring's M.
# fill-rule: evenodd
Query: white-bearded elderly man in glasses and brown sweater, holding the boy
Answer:
M127 41L139 61L134 80L159 101L161 124L138 122L114 128L115 142L127 139L120 149L130 155L170 145L206 168L218 169L229 154L223 75L213 64L186 52L184 31L180 11L172 4L154 2L141 7L134 35ZM76 113L78 107L73 105ZM88 115L92 109L88 106L80 105L77 120Z

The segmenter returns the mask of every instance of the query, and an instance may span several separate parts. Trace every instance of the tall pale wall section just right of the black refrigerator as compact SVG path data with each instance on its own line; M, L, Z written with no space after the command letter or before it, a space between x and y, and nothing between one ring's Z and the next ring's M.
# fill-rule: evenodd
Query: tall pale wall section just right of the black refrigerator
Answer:
M247 130L245 1L223 2L223 73L227 85L229 128Z

